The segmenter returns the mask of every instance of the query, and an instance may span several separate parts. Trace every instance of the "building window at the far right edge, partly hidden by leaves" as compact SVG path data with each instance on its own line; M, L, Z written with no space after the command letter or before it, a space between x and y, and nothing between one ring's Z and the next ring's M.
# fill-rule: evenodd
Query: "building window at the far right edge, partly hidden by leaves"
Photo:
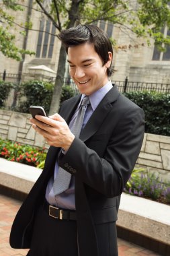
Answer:
M161 31L164 36L170 36L170 30L165 26ZM170 61L170 46L167 45L165 52L160 52L155 46L153 51L153 61Z

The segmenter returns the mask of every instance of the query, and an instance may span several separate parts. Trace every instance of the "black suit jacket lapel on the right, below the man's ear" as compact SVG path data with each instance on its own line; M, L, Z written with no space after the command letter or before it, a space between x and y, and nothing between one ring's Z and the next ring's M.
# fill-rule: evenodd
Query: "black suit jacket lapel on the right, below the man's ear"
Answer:
M85 128L81 132L80 139L86 141L91 137L101 126L105 117L112 110L112 104L118 99L120 92L118 88L113 86L113 88L105 95L103 100L99 103L94 113L91 115L89 121L85 125Z

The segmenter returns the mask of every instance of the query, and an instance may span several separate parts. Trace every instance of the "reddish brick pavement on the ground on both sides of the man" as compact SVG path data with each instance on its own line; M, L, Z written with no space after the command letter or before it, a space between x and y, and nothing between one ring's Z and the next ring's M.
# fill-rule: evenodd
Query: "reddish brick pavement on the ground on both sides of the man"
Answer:
M0 195L0 255L1 256L25 256L28 250L11 249L9 245L9 232L13 218L21 205L21 201ZM118 238L119 256L156 256L159 254L148 251L142 247L128 243ZM47 255L48 256L48 255ZM103 255L104 256L104 255Z

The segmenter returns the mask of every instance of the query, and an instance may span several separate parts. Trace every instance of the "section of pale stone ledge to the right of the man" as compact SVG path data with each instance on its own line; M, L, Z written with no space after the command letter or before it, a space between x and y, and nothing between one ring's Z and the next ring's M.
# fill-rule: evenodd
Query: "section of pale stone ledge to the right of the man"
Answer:
M170 206L122 193L117 225L170 245Z

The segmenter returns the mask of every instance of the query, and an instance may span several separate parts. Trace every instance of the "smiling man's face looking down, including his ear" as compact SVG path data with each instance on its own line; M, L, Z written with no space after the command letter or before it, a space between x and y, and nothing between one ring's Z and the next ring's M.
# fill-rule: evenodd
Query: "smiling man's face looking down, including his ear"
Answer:
M68 49L69 72L81 94L90 95L108 82L107 67L110 67L112 53L103 65L93 44L85 43Z

